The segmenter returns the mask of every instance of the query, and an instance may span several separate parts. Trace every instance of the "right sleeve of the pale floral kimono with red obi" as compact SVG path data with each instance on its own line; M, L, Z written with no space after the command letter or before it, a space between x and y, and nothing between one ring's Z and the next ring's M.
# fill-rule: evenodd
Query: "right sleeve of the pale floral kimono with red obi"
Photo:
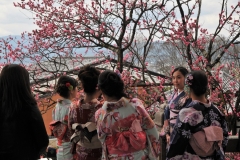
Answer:
M147 135L147 147L149 151L148 157L149 159L156 159L158 158L160 152L159 133L157 131L157 128L153 120L143 107L143 104L140 101L133 104L135 105L137 104L136 110L138 114L141 116L142 128Z

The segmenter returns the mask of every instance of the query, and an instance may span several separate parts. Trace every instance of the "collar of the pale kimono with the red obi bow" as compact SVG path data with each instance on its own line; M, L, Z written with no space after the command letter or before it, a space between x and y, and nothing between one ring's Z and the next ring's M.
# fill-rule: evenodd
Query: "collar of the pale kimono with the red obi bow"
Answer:
M125 107L125 106L127 106L128 103L129 103L129 100L125 97L122 97L117 102L105 101L102 108L106 111L112 111L114 109Z

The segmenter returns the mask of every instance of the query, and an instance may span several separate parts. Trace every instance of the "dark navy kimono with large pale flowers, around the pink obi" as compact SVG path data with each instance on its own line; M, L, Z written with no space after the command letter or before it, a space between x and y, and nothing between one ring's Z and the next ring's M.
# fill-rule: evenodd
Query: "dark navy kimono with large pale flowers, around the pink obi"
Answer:
M223 141L219 150L208 157L196 155L189 144L193 133L208 126L218 126L223 130ZM171 134L167 159L170 160L224 160L224 150L228 143L228 128L224 115L211 103L205 104L192 101L179 113L176 125Z

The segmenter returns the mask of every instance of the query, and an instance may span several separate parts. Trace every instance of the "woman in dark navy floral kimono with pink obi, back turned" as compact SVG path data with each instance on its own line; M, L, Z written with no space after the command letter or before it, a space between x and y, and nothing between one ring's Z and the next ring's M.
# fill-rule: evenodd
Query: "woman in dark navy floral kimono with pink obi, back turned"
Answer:
M219 109L206 99L207 76L203 71L193 71L186 77L186 84L190 87L192 102L186 108L183 108L178 115L171 134L167 158L171 160L224 160L224 150L228 142L227 123ZM208 126L220 127L221 134L215 137L212 136L211 139L222 137L222 144L212 155L199 156L196 154L197 150L190 145L189 140L192 134Z

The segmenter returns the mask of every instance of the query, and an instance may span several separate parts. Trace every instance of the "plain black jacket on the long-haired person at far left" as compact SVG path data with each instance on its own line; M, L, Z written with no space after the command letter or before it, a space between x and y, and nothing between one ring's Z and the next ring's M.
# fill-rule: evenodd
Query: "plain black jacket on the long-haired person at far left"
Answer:
M0 122L0 159L36 160L48 146L49 139L37 106Z

